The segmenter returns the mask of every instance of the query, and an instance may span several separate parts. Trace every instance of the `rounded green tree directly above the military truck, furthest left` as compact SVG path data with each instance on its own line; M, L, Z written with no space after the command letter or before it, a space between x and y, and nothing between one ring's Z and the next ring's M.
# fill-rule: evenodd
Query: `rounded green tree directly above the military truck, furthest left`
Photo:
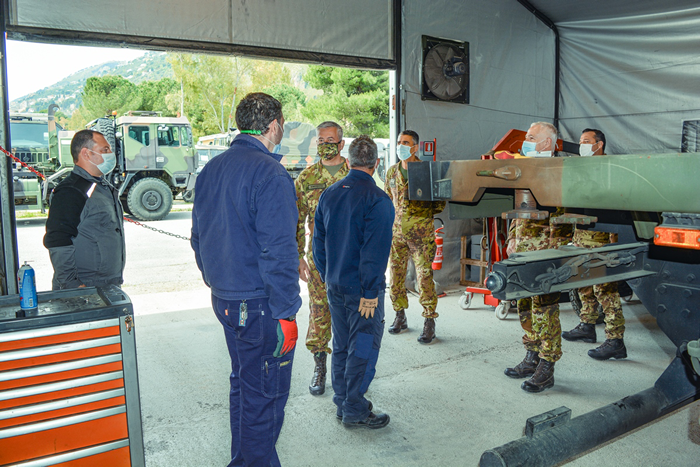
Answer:
M88 121L117 112L136 110L141 104L137 86L121 76L91 77L82 92L83 111Z

